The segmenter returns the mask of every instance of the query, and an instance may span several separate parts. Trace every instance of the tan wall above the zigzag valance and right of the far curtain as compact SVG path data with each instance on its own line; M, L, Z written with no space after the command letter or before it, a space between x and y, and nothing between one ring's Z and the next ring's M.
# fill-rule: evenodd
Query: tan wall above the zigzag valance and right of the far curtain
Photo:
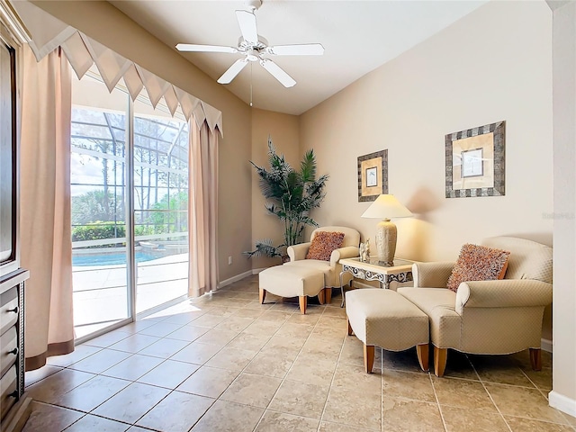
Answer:
M243 222L252 217L252 177L246 164L238 163L251 157L251 112L247 104L107 2L33 3L222 112L224 138L220 139L219 147L218 229L220 281L250 270L251 265L242 256L242 251L251 241L250 231ZM233 258L231 266L228 265L229 256Z

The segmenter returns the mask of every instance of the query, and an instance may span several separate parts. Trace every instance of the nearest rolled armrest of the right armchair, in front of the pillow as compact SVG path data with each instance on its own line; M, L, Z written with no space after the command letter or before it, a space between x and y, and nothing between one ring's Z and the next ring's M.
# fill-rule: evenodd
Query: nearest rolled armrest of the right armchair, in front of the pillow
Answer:
M552 284L533 279L463 282L456 293L456 312L464 308L522 308L552 303Z

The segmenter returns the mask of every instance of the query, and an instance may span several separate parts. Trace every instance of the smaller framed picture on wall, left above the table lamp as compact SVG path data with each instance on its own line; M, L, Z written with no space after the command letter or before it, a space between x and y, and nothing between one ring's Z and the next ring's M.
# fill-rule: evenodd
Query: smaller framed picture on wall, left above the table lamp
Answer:
M358 157L358 202L388 193L388 150Z

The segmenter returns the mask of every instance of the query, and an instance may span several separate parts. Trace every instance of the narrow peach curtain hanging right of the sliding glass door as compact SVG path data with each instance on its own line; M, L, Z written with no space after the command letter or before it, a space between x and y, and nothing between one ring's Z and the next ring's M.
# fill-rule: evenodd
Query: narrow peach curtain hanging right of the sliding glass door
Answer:
M190 120L188 151L188 294L198 297L218 286L218 132Z

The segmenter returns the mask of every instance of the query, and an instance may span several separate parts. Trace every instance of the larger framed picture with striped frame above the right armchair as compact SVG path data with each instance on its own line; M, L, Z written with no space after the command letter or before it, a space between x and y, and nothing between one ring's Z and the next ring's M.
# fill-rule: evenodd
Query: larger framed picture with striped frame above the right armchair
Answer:
M506 121L446 135L446 198L504 195Z

